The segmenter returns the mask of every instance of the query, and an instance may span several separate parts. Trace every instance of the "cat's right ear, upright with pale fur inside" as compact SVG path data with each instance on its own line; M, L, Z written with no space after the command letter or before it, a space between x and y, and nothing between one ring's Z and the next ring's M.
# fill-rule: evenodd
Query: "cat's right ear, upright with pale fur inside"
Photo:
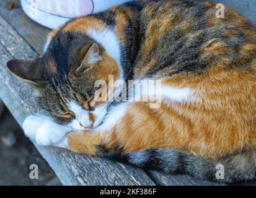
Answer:
M76 71L81 72L93 66L95 63L102 60L102 53L99 46L96 43L82 48L81 64Z

